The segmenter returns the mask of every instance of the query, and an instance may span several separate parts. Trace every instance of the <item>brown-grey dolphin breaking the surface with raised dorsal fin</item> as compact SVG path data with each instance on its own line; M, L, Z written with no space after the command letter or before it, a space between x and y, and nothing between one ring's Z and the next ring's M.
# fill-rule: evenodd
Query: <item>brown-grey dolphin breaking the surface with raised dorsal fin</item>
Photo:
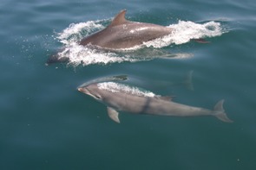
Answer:
M173 31L172 28L153 23L128 21L125 18L126 11L126 9L121 10L108 27L84 37L79 45L116 51L140 46L143 42L161 38ZM67 60L69 59L54 54L49 57L47 63Z

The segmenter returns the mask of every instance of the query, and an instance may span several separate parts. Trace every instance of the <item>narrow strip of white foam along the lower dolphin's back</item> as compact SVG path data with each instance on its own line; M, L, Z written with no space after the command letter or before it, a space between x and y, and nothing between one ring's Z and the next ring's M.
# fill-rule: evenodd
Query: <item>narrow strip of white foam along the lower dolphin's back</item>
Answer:
M99 83L99 84L97 84L97 86L101 90L111 91L114 93L124 92L124 93L132 94L135 96L142 96L142 97L149 97L149 98L155 97L155 94L151 91L145 91L138 87L123 85L123 84L115 83L115 82Z

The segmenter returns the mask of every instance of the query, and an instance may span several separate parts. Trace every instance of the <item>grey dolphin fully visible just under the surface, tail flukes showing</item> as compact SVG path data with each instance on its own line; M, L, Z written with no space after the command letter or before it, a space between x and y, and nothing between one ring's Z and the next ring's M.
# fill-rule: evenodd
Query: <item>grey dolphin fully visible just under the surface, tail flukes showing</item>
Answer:
M141 92L138 88L130 88L128 85L115 82L80 86L78 91L106 104L108 116L116 123L120 123L118 111L158 116L215 116L225 123L233 122L226 116L223 99L214 106L213 110L207 110L174 103L168 97L154 95L152 92Z

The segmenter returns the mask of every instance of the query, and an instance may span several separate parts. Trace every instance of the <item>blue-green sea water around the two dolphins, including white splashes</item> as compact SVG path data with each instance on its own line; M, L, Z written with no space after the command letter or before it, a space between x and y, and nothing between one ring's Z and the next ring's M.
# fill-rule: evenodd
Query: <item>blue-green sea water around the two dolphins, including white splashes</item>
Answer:
M121 53L77 44L121 9L175 32ZM0 169L256 169L255 9L255 0L2 0ZM47 66L56 53L69 62ZM77 87L118 75L181 104L213 110L225 99L233 123L127 112L115 123Z

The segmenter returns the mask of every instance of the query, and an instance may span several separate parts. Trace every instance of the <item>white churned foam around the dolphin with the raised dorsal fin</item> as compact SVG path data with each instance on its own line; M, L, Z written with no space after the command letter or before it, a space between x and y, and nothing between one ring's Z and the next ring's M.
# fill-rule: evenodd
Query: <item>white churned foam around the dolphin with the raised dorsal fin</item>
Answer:
M154 41L144 42L141 46L137 46L130 49L123 49L125 53L106 52L91 47L83 47L79 45L79 41L87 35L91 35L96 31L105 28L110 20L98 20L89 22L72 23L68 28L65 28L62 33L59 33L57 39L62 42L65 49L59 52L58 55L69 59L69 65L71 66L88 66L92 64L107 65L109 63L121 63L124 61L136 62L141 60L152 60L157 58L159 51L156 54L150 55L136 55L138 49L143 47L161 48L167 47L172 44L181 45L191 41L193 39L207 38L220 36L225 33L221 28L220 22L206 22L206 23L194 23L180 21L176 24L167 26L173 28L174 31L170 35L166 35L162 38ZM154 50L155 52L156 50ZM160 54L165 57L165 54ZM174 58L184 58L184 54L176 54Z

